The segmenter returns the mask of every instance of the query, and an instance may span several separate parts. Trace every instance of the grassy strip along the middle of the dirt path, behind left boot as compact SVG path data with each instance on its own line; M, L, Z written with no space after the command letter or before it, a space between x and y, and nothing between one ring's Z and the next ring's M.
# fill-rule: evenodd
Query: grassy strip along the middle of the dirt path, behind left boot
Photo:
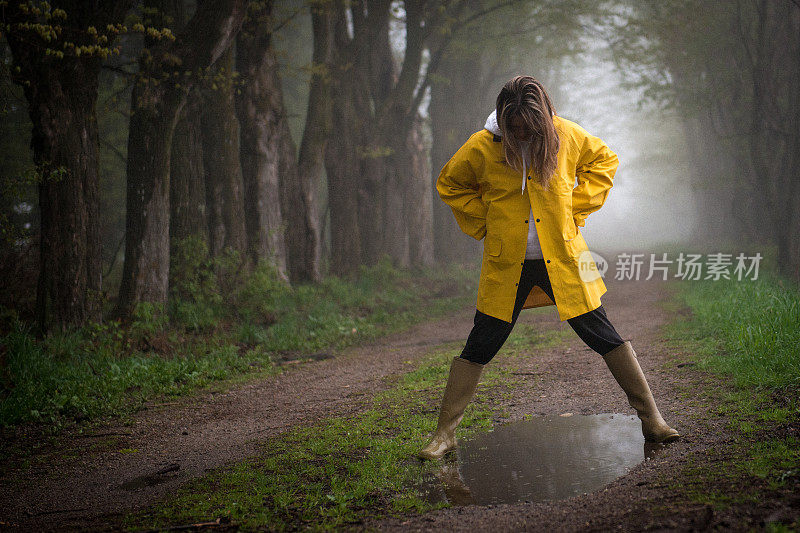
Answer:
M519 345L518 345L519 346ZM415 480L435 462L415 458L435 429L438 406L457 348L438 351L348 418L293 429L264 444L257 458L194 480L127 526L168 527L222 518L251 530L340 528L368 517L424 512ZM463 437L491 427L494 389L514 376L488 366L459 427Z

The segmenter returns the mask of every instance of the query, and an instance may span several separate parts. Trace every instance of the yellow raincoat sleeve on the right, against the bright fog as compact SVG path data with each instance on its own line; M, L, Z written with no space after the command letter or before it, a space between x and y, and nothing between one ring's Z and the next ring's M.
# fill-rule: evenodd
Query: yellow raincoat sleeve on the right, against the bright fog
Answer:
M600 209L613 185L619 166L617 154L599 138L585 134L575 175L578 186L572 189L572 218L584 226L586 217Z

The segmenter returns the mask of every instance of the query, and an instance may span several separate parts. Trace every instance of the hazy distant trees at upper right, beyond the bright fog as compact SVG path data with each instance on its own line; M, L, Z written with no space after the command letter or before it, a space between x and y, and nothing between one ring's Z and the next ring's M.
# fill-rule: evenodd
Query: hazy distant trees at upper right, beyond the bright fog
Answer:
M800 2L609 2L620 70L679 111L701 237L767 242L800 280Z

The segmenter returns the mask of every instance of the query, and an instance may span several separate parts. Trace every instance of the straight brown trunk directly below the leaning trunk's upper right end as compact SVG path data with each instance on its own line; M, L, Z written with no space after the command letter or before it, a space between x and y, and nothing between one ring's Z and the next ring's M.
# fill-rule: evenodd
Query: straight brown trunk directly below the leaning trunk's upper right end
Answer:
M239 164L239 122L234 106L233 47L217 61L213 83L203 90L200 115L208 207L209 250L247 248L242 170Z

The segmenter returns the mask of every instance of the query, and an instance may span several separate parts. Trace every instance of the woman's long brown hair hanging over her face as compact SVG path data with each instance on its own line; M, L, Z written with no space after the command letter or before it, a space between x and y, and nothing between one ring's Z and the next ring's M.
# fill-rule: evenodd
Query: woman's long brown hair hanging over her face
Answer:
M553 102L541 83L530 76L517 76L506 82L497 95L497 125L503 134L503 155L512 168L522 170L519 142L512 133L512 120L522 119L525 131L531 135L531 167L536 181L545 189L558 164L558 138L553 115Z

